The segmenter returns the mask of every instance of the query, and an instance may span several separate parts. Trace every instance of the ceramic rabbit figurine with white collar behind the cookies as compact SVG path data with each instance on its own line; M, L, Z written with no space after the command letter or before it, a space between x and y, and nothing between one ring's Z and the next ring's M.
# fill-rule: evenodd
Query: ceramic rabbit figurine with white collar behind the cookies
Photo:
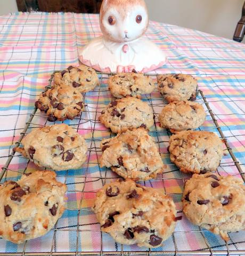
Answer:
M156 44L144 37L149 17L144 0L104 0L100 10L102 36L80 52L80 61L97 71L149 72L166 62Z

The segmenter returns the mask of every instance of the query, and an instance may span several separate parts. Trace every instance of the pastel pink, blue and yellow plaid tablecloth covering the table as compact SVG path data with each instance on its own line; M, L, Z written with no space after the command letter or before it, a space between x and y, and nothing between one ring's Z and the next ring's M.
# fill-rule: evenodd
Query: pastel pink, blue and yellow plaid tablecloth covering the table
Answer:
M15 142L34 109L34 102L47 86L50 75L69 65L78 65L80 49L92 38L101 35L99 19L95 14L73 13L17 13L0 17L0 165L4 166ZM196 30L150 22L146 36L168 56L166 65L156 73L185 73L197 76L199 89L205 94L235 157L244 170L245 162L245 45ZM4 252L100 252L144 251L137 246L124 246L100 232L99 224L91 211L97 189L116 175L99 168L97 161L102 138L111 136L97 118L110 102L107 76L101 77L101 86L85 96L87 110L81 118L66 121L83 135L89 153L85 166L80 170L57 172L58 179L68 186L67 210L47 235L15 245L0 239L0 253ZM154 91L146 96L157 114L163 101ZM199 96L198 102L203 104ZM204 104L203 104L204 105ZM201 127L217 133L207 111L207 121ZM30 129L51 125L39 112ZM218 133L217 133L218 134ZM164 188L176 203L178 216L182 216L181 197L184 180L190 176L181 174L171 164L167 153L169 133L156 126L150 130L159 144L166 172L159 179L145 182L146 186ZM219 134L218 134L219 135ZM227 153L227 152L226 152ZM17 180L21 173L37 167L27 159L15 156L1 182ZM225 154L219 173L239 177L230 155ZM106 178L106 179L105 179ZM244 196L244 195L241 195ZM0 213L2 214L2 213ZM79 220L79 223L77 222ZM206 238L206 242L205 239ZM152 251L183 250L245 250L245 231L230 234L226 245L218 236L208 231L200 232L183 216L177 222L176 232L162 247ZM208 245L207 245L208 244ZM176 247L175 247L176 245ZM24 247L25 246L25 247ZM77 246L77 247L76 247Z

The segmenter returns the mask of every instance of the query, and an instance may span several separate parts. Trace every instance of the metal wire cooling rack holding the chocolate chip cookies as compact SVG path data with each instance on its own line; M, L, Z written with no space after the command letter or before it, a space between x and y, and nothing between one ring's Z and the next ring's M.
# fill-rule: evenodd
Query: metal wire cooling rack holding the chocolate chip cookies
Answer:
M64 121L84 136L88 153L83 168L56 172L57 179L66 183L68 187L67 208L63 216L45 236L27 241L18 247L0 239L0 255L245 255L245 250L241 250L241 247L237 246L239 242L234 243L233 235L229 234L230 241L224 242L219 236L193 226L183 215L181 198L184 183L191 176L179 172L178 168L169 160L167 146L171 134L168 130L160 128L158 124L158 114L167 103L164 102L157 89L150 96L145 95L142 100L148 102L155 115L154 126L149 134L159 147L166 169L156 179L141 183L146 187L163 188L165 193L174 199L177 216L182 216L182 219L177 222L173 235L158 249L121 245L113 241L108 234L100 231L100 225L92 211L93 199L98 189L105 183L118 179L118 176L110 169L100 168L98 165L101 156L101 140L114 136L98 120L103 108L111 102L107 86L110 75L103 73L98 75L100 86L84 95L87 104L86 110L80 117ZM53 76L54 74L51 76L47 88L51 87ZM156 75L150 74L150 76L156 82ZM217 172L220 175L234 175L245 181L239 161L236 160L222 129L219 127L216 115L211 110L209 102L200 88L197 91L197 102L205 107L207 114L206 121L199 130L213 131L225 140L224 157ZM60 122L56 121L55 123ZM45 114L35 108L16 144L20 145L22 138L32 129L52 124L53 122L47 121ZM12 152L2 168L0 183L9 179L18 180L22 174L37 168L25 157ZM235 233L235 236L239 236L239 234L240 232ZM244 236L244 232L242 235Z

